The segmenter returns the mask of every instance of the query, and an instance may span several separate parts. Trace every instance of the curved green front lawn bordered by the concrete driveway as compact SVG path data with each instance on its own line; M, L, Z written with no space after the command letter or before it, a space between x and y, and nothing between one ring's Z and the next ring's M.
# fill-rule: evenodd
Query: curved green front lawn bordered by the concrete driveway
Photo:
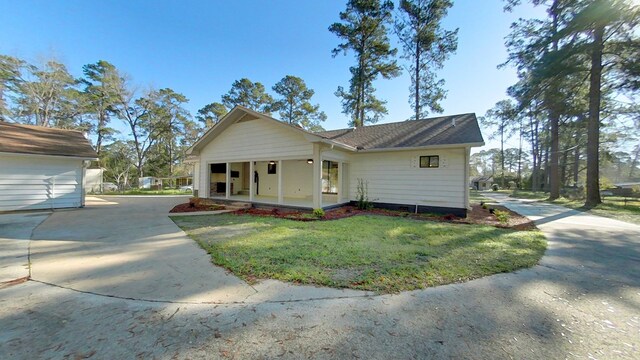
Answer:
M249 215L172 217L217 265L248 282L279 279L381 293L533 266L537 231L387 216L299 222Z

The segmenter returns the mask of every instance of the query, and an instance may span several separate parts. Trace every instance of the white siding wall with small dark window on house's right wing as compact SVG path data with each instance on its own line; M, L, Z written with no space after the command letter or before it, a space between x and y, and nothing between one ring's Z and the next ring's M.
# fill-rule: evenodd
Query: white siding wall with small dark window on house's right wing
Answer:
M355 200L358 179L369 185L374 202L464 209L465 149L390 151L352 155L349 195ZM420 156L440 156L440 167L420 168Z

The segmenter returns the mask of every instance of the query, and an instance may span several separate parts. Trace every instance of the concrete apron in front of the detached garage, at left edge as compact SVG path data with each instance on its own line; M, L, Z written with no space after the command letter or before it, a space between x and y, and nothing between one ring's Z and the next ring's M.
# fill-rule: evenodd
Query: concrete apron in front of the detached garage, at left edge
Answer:
M29 276L29 239L50 212L0 215L0 286Z

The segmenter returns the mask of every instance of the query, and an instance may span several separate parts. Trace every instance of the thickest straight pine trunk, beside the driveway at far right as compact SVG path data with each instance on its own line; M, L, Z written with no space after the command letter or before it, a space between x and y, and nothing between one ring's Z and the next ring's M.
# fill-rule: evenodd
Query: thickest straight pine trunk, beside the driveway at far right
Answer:
M600 86L602 82L602 51L604 26L593 31L591 70L589 75L589 119L587 123L587 199L585 207L602 203L600 198Z

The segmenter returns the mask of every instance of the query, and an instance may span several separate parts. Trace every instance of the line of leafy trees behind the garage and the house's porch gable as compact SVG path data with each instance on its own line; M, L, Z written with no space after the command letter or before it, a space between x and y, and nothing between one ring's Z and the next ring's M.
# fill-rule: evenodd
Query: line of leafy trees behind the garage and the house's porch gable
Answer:
M236 105L278 112L282 121L322 130L326 115L310 103L314 91L304 80L287 75L272 89L275 97L259 82L237 80L221 102L193 117L183 94L170 88L140 90L107 61L83 66L82 76L75 78L54 60L34 65L0 55L0 120L84 131L98 153L96 165L105 168L105 181L122 187L136 186L141 176L188 175L185 151Z

